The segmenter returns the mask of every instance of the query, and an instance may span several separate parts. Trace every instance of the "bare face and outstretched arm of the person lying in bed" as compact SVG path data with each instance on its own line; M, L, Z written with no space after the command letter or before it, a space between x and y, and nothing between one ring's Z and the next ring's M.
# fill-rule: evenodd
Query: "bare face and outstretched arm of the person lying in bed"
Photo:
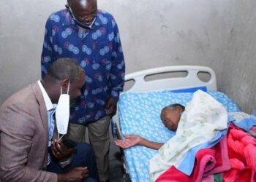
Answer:
M165 106L161 111L161 120L169 130L176 131L178 128L178 122L181 119L181 114L185 110L185 107L181 104L175 103L170 106ZM123 149L128 149L132 146L146 146L150 149L160 149L164 143L157 143L154 141L148 141L139 135L125 135L124 140L116 140L117 146Z

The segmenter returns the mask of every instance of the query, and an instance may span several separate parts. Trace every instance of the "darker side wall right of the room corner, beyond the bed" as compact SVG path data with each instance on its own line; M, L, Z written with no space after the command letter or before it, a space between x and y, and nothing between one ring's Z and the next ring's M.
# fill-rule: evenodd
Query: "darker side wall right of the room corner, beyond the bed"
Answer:
M256 112L256 1L236 1L236 20L228 36L228 47L220 90L243 111Z

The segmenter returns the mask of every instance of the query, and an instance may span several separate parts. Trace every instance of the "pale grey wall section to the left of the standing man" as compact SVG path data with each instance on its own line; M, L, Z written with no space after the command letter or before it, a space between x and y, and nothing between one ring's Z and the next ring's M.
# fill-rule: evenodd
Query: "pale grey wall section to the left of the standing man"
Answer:
M61 1L0 1L0 104L40 78L45 21Z

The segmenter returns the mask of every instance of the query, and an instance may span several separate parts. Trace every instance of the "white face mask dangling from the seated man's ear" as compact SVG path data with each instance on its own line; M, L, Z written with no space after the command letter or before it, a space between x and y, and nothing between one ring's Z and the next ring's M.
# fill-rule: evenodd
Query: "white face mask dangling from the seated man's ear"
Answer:
M56 124L59 134L67 134L67 127L69 125L69 86L67 88L67 94L59 96L59 102L56 107Z

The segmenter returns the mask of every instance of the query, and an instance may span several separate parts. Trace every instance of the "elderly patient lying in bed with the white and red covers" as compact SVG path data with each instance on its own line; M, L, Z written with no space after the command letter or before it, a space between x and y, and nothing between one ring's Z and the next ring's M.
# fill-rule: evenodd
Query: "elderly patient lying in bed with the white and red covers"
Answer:
M227 113L211 95L198 90L186 109L179 104L163 108L161 120L169 130L176 131L165 144L138 135L115 141L124 149L135 145L158 149L148 162L153 181L202 181L216 173L224 173L225 181L241 181L245 176L256 181L256 140L244 132L256 125L255 116Z

